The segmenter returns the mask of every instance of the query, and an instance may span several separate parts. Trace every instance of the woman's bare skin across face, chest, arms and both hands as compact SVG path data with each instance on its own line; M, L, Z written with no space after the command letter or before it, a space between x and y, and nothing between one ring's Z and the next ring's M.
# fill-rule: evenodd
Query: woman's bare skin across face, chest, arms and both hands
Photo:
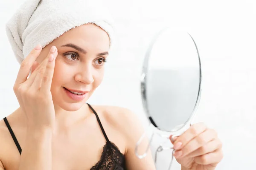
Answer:
M14 85L20 108L7 117L22 155L1 120L0 170L89 170L100 160L106 140L86 101L102 82L109 45L104 30L85 24L43 49L32 50ZM30 68L32 74L26 80ZM64 87L88 93L77 101ZM144 159L135 156L136 142L144 132L137 116L116 106L92 107L110 141L125 155L127 169L155 170L150 151ZM178 142L182 142L180 148ZM222 159L216 132L201 123L177 137L175 148L182 151L180 158L175 155L182 170L214 170Z

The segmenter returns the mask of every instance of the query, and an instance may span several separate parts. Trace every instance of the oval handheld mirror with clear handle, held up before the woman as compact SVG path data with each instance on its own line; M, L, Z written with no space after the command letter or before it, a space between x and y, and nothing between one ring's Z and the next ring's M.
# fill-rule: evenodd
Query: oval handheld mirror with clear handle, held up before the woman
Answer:
M171 28L156 34L143 63L141 95L155 133L169 137L191 124L201 95L201 61L190 34ZM146 156L138 153L144 137L145 133L135 150L140 159Z

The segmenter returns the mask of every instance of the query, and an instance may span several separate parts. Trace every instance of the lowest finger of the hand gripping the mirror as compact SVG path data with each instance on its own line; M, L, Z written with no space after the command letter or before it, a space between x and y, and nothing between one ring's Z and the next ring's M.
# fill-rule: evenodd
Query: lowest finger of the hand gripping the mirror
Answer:
M222 153L222 150L219 149L212 153L207 153L202 156L197 156L195 157L194 160L198 164L202 164L202 165L212 164L212 166L216 166L221 161L221 159L223 159L223 153Z

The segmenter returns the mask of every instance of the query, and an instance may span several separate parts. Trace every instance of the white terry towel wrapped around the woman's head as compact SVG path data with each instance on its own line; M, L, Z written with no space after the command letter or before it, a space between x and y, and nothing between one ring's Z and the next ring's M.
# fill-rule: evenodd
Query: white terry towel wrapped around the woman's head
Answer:
M113 19L101 0L26 0L6 24L6 32L21 63L36 45L44 48L66 31L86 23L104 29L112 44Z

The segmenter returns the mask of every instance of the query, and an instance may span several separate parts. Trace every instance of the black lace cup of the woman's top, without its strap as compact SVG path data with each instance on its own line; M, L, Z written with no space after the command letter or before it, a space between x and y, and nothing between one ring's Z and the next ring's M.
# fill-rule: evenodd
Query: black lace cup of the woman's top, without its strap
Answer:
M100 160L90 170L125 170L125 156L113 142L107 142Z

